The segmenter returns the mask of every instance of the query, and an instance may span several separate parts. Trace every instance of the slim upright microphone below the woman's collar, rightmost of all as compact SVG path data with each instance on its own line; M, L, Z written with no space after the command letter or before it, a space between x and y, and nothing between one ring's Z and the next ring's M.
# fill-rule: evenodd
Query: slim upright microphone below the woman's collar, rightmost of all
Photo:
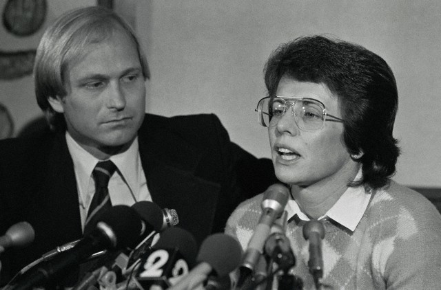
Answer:
M323 277L322 238L325 238L325 227L320 221L307 221L303 225L303 236L309 240L308 267L317 287Z

